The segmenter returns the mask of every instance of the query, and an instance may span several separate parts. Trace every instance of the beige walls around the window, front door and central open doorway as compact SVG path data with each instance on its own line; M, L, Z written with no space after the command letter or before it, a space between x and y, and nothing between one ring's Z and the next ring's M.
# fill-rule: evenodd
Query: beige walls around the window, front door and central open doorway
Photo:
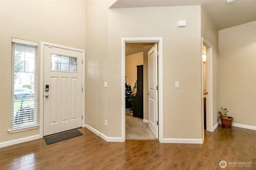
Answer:
M0 84L1 142L39 134L7 132L11 59L6 56L11 56L11 37L78 49L86 45L85 123L108 137L121 137L121 38L163 37L164 138L202 139L200 6L108 9L113 3L1 1L0 69L6 72ZM30 20L21 20L24 17ZM177 28L178 20L186 20L187 26Z

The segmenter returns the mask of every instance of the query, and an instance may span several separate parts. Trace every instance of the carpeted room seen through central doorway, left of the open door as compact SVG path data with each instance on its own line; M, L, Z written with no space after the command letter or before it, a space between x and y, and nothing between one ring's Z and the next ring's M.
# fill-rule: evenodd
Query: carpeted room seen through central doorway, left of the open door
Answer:
M155 140L148 127L148 51L155 43L126 43L126 140Z

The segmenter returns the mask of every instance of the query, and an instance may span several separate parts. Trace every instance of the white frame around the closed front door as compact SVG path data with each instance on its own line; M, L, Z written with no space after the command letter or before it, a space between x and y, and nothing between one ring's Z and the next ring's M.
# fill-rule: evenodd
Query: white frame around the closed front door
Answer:
M44 137L44 45L48 45L51 47L56 47L60 49L66 49L66 50L72 50L72 51L78 51L82 53L82 127L85 127L84 123L84 118L85 118L85 103L84 103L84 98L85 98L85 50L82 49L76 49L72 47L66 47L63 45L57 45L53 43L47 43L41 41L41 51L40 51L40 96L39 96L39 101L40 101L40 138Z

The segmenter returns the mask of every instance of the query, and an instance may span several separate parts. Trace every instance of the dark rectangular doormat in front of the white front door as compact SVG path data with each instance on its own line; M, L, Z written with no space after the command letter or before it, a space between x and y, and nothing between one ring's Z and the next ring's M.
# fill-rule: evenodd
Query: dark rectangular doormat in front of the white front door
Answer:
M50 145L50 144L57 143L60 141L65 141L65 140L73 138L73 137L78 137L81 135L84 135L84 134L82 134L80 131L78 131L76 129L76 130L67 131L64 133L58 133L56 135L52 135L49 137L44 137L44 141L45 141L46 145Z

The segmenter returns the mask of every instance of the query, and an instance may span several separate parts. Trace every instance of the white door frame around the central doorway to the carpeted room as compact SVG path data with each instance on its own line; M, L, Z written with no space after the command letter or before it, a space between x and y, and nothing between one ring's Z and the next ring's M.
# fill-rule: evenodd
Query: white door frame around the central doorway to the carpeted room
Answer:
M158 43L158 141L163 143L163 37L122 38L121 51L121 86L125 87L125 44L126 43ZM125 141L125 91L121 88L121 131Z

